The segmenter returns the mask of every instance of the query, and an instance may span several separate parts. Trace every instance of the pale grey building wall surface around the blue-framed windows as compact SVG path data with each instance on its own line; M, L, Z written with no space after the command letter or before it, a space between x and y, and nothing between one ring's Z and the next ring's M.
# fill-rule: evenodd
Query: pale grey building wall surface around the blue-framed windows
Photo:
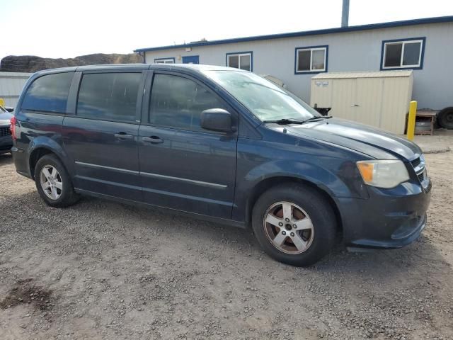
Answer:
M295 47L328 45L328 72L379 71L382 40L425 37L423 69L413 72L413 99L419 108L441 109L453 106L453 23L430 23L396 28L361 30L349 33L310 35L236 42L224 45L145 52L145 61L154 58L199 55L200 64L226 65L226 53L253 52L253 72L282 79L287 88L310 101L310 79L314 74L294 74Z

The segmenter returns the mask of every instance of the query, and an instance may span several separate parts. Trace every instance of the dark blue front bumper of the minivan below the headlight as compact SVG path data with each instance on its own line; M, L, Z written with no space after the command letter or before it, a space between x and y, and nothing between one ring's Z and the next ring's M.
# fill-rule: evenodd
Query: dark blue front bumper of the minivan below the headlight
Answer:
M368 199L338 198L347 246L401 248L425 229L431 182L426 188L403 183L393 189L369 188Z

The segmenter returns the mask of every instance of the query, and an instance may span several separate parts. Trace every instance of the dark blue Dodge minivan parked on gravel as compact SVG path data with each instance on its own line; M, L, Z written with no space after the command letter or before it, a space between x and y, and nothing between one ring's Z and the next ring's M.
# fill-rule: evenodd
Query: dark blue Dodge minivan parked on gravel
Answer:
M90 195L251 226L295 266L328 254L338 232L347 246L389 249L426 225L431 183L417 145L319 115L239 69L37 72L11 123L16 169L52 207Z

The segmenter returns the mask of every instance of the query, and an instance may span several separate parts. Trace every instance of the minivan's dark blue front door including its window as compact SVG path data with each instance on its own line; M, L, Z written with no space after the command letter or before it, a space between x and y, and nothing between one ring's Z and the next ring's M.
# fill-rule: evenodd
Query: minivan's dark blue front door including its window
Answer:
M171 72L154 73L148 102L139 128L144 202L231 218L237 133L200 127L202 111L226 104L195 79Z

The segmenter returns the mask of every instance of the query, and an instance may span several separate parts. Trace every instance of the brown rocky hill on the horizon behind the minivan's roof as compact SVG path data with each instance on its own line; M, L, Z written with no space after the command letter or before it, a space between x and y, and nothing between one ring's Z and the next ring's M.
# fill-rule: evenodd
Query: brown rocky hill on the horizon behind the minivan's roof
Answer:
M81 55L68 59L52 59L36 57L34 55L8 55L0 62L0 72L36 72L41 69L55 69L57 67L94 65L94 64L132 64L143 62L143 58L135 53L128 55L97 53L95 55Z

